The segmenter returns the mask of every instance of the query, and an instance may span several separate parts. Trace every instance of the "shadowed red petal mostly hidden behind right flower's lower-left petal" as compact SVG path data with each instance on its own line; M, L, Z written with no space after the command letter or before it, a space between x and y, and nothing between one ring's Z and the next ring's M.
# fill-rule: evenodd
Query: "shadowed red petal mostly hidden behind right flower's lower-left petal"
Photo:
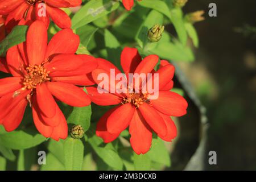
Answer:
M120 133L117 134L112 134L109 133L107 128L106 128L106 122L109 118L109 115L112 114L112 112L115 110L115 108L109 110L108 112L106 112L100 119L100 121L98 121L97 123L97 127L96 127L96 135L98 137L101 137L105 143L109 143L112 142L113 140L115 140Z

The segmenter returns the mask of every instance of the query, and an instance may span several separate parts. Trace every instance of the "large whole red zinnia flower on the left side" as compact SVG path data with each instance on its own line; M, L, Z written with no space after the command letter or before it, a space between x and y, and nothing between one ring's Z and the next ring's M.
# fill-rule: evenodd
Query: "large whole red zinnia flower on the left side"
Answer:
M67 137L67 122L53 96L71 106L90 105L88 95L75 85L86 85L84 74L97 68L94 57L75 55L79 42L71 29L64 29L47 45L47 28L36 20L28 28L26 42L7 51L6 63L2 60L0 65L13 75L0 80L0 123L6 131L19 126L29 104L44 137Z

